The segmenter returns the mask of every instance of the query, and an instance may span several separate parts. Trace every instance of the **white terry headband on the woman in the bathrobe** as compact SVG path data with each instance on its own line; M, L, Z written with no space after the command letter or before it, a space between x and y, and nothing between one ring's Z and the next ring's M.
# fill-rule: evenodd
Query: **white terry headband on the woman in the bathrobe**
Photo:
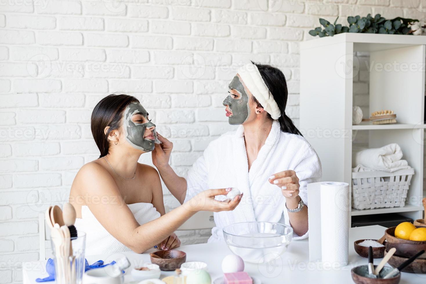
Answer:
M281 116L281 112L273 96L269 92L268 86L266 86L262 75L260 75L257 66L250 62L240 67L238 69L238 74L253 97L263 106L263 109L271 115L272 119L278 119Z

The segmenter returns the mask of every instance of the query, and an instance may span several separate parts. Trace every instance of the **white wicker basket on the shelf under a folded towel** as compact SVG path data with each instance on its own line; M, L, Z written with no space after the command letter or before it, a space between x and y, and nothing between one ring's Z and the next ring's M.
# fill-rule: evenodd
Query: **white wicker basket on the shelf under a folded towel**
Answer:
M396 172L352 172L352 207L403 207L414 169Z

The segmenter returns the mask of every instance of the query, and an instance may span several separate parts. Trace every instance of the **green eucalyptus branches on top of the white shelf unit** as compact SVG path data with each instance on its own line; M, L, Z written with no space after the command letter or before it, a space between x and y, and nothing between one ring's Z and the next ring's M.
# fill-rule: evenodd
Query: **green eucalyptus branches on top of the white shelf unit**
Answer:
M407 19L402 17L396 17L392 20L386 20L380 14L376 14L371 17L368 14L367 17L348 17L349 26L342 26L337 24L337 19L331 24L328 20L320 19L321 26L310 30L309 34L312 36L334 36L334 34L340 34L343 32L361 32L369 34L412 34L410 25L414 22L418 22L415 19Z

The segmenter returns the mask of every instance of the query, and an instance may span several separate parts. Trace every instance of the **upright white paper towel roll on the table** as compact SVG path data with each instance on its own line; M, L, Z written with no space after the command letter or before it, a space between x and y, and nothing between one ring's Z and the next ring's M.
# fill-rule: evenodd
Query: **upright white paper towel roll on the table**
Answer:
M349 185L323 182L321 191L321 258L335 267L348 265Z

